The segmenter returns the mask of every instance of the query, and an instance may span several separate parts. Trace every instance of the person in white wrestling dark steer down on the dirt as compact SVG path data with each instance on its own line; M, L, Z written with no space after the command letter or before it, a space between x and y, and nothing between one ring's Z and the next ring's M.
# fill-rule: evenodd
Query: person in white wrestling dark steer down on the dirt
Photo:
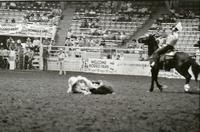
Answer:
M112 94L113 89L103 81L90 81L86 77L78 76L69 78L67 93Z

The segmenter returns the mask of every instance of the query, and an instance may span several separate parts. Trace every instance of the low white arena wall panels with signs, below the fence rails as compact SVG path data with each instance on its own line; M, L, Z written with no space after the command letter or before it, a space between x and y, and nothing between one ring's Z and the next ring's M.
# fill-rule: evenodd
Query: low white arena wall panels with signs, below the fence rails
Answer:
M57 58L49 58L48 70L58 71L58 69ZM151 76L148 61L66 58L65 70L97 74ZM189 69L189 72L193 76L191 69ZM159 77L184 79L174 69L170 72L161 70ZM192 79L194 79L194 77L192 77Z

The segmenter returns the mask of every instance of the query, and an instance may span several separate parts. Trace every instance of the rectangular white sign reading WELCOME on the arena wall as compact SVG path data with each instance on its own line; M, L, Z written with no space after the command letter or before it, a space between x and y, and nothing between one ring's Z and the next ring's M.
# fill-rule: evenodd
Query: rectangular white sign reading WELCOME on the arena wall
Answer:
M81 71L111 74L115 73L115 60L108 59L83 59Z

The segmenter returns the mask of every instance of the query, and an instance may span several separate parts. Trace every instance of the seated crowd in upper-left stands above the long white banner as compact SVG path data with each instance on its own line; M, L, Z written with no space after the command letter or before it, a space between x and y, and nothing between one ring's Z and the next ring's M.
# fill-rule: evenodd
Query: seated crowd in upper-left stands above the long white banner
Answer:
M12 19L8 20L6 16L5 22L44 22L51 25L58 25L58 21L63 19L60 2L1 2L0 9L2 13L10 14ZM9 10L6 10L9 9ZM12 10L14 11L12 14ZM11 12L11 13L10 13ZM15 16L16 12L20 15ZM2 14L4 15L4 14ZM20 21L18 21L21 17Z

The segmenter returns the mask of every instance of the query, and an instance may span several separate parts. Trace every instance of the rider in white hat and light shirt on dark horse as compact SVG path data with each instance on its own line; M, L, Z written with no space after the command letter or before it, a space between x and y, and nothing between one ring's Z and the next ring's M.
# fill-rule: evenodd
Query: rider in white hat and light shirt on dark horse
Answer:
M168 51L174 50L174 46L176 45L178 41L178 31L182 31L181 22L179 22L175 27L171 29L171 33L168 34L168 37L166 38L166 45L163 46L162 48L159 48L153 53L151 57L153 59L153 61L150 64L151 67L157 64L157 62L159 61L160 55L165 54Z

